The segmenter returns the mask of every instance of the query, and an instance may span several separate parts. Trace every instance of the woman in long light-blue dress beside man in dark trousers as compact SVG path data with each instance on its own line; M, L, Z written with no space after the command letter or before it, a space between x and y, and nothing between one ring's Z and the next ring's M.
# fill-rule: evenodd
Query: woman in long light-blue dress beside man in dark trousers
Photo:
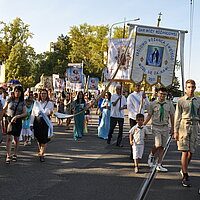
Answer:
M108 139L108 133L110 129L110 108L111 108L111 93L106 92L105 99L103 100L101 107L103 108L102 111L102 119L101 123L98 127L98 137L103 139Z

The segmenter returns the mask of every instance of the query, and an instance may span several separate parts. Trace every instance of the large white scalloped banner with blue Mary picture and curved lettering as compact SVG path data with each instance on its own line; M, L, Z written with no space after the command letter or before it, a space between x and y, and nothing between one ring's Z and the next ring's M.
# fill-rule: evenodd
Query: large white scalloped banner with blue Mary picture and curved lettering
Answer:
M134 62L131 79L140 83L172 84L179 31L148 26L136 26Z

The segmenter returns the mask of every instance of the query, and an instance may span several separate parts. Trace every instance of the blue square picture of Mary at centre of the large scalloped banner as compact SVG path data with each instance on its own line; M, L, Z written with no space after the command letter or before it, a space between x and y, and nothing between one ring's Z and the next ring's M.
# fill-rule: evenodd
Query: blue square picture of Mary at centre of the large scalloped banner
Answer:
M164 47L148 46L146 65L161 67Z

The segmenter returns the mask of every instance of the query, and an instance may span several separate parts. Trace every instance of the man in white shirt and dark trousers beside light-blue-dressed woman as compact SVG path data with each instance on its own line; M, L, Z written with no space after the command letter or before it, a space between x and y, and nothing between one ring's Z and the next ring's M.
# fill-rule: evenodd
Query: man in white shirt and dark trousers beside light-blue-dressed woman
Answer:
M127 108L126 98L121 95L121 86L116 87L116 94L111 97L111 114L110 114L110 131L108 133L107 143L110 144L113 131L119 124L119 133L117 138L116 146L121 147L122 135L123 135L123 124L124 124L124 109Z

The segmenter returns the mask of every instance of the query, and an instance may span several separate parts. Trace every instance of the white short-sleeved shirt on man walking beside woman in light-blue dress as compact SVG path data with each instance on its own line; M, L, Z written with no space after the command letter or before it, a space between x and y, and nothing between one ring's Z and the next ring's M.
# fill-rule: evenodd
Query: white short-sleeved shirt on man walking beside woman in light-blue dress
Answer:
M114 103L118 98L119 98L118 94L113 94L111 97L111 103ZM125 105L127 105L126 98L122 96L121 100L117 102L116 106L113 106L113 104L111 104L110 116L115 118L124 118L124 110L119 110L119 108Z

